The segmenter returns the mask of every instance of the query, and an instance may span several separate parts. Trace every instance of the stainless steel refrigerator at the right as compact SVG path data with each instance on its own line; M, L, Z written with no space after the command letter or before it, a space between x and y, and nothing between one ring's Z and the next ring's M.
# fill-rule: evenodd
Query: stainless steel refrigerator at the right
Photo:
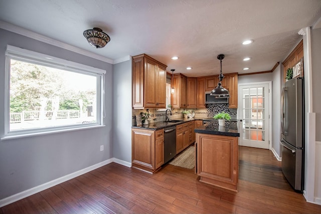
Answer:
M304 184L304 84L303 78L285 82L281 97L282 171L297 191Z

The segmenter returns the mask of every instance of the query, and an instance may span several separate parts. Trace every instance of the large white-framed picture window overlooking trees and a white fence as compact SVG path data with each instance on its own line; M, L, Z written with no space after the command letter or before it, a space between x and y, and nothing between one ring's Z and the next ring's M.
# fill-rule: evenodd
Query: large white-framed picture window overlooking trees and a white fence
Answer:
M8 45L5 134L102 125L104 74Z

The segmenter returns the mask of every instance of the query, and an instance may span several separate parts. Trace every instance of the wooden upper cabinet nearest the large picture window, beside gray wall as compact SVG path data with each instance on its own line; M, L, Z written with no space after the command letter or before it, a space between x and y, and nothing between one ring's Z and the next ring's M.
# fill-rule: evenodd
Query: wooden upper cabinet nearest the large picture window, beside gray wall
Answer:
M132 107L166 108L166 68L146 54L132 57Z

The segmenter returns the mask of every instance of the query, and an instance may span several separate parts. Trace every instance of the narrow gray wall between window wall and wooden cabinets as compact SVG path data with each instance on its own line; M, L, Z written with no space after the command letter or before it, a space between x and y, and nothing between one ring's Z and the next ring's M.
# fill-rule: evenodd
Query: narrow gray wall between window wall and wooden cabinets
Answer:
M113 156L131 163L131 60L114 65Z

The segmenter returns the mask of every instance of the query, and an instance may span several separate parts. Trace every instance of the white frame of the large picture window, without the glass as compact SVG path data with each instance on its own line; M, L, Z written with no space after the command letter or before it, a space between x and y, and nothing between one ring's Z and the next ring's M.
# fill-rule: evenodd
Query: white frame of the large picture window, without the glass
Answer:
M53 67L57 69L63 69L66 71L72 71L80 74L87 74L97 77L97 121L96 123L84 123L84 124L72 124L66 126L34 128L27 130L14 130L10 131L10 65L11 59L34 63L38 65ZM34 51L14 47L7 45L6 50L6 68L5 68L5 136L0 140L21 138L35 135L51 134L57 132L65 132L79 129L102 127L103 125L103 113L104 113L104 77L105 70L94 68L91 66L71 62L68 60L60 59L57 57L37 53Z

